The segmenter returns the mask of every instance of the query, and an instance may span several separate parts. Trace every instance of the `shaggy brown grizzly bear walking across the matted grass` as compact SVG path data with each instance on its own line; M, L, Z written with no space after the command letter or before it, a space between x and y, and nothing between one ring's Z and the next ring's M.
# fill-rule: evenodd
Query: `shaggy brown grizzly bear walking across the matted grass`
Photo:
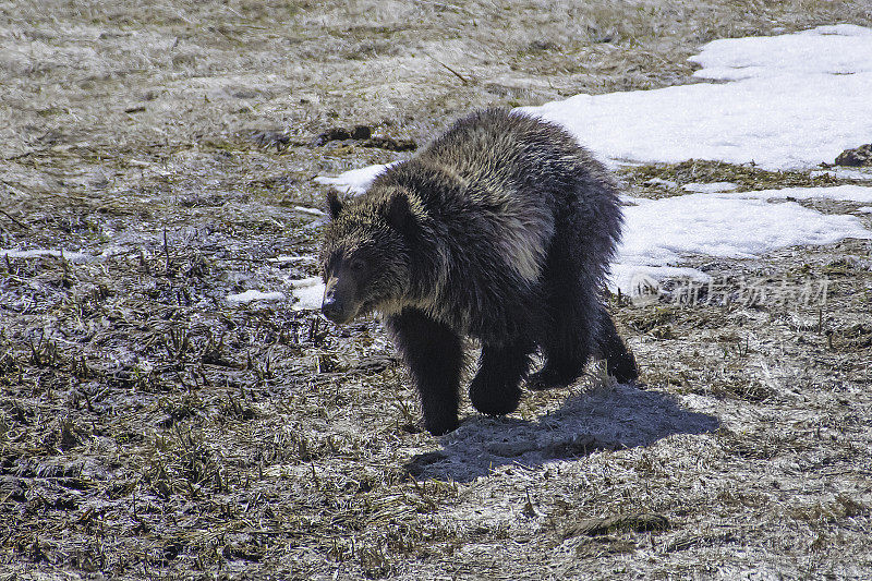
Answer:
M377 311L421 395L424 426L458 426L463 336L482 353L469 388L482 413L572 383L591 355L619 382L635 360L603 306L620 237L618 189L572 135L499 109L457 121L359 197L328 195L322 312ZM544 366L526 377L537 350Z

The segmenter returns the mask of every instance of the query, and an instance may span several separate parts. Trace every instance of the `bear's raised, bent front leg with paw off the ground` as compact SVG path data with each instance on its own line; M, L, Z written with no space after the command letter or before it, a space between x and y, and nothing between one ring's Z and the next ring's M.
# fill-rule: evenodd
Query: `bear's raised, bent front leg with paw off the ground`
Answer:
M470 400L476 410L487 415L506 415L518 408L519 384L530 367L531 351L522 342L482 346L479 373L470 384Z

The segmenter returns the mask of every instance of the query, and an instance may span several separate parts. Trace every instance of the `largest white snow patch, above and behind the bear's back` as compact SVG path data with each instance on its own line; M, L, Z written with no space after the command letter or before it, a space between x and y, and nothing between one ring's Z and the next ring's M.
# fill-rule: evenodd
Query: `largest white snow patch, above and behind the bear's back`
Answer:
M833 162L872 135L872 29L840 24L731 38L690 59L730 81L577 95L521 111L557 122L602 157L716 159L798 169Z

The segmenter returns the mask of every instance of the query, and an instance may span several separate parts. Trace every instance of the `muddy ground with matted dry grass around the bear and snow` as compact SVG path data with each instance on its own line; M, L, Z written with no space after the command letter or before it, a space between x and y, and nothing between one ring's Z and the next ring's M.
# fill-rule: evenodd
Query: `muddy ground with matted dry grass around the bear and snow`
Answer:
M872 25L864 0L507 4L0 2L0 249L63 250L0 262L0 579L872 577L869 241L688 257L723 285L610 300L641 387L592 368L441 439L376 320L227 301L317 274L313 177L470 109ZM622 170L652 177L850 183Z

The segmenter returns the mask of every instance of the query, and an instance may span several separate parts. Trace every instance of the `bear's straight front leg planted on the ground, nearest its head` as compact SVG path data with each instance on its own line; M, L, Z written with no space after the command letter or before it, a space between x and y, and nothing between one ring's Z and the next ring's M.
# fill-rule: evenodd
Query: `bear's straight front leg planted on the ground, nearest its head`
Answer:
M451 432L458 426L460 337L416 308L404 308L386 324L421 394L424 427L435 436Z

